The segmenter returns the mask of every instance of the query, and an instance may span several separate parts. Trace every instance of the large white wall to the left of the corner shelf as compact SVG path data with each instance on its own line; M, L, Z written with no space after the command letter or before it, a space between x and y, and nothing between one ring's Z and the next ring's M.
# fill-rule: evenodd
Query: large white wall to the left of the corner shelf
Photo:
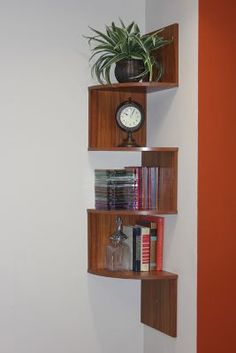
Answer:
M144 28L144 12L144 0L0 2L2 353L143 351L140 284L86 273L93 169L121 162L87 152L82 34L119 16Z

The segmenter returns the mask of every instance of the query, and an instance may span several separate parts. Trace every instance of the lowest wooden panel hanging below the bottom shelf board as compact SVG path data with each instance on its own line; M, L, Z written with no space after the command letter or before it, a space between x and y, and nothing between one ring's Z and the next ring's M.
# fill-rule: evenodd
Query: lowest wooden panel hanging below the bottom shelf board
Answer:
M141 282L141 322L177 336L177 279Z

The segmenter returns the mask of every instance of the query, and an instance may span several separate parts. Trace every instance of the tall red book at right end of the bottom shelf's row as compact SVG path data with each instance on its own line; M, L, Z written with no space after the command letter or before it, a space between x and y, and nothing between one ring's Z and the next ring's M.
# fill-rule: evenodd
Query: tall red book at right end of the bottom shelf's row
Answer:
M163 269L163 244L164 244L164 217L147 216L143 220L155 222L157 225L157 242L156 242L156 270Z

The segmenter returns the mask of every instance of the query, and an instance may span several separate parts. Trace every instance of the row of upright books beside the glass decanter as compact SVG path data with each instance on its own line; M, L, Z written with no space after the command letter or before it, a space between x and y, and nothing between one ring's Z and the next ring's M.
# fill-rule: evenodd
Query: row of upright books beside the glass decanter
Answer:
M130 270L162 271L164 217L144 217L135 225L124 225L131 251Z

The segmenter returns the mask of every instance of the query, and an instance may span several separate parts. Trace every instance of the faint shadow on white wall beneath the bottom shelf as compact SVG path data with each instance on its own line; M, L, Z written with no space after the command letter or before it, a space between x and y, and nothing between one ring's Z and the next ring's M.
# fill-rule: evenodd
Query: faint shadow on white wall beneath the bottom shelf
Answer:
M143 350L139 318L139 281L87 275L88 296L97 344L102 353Z

